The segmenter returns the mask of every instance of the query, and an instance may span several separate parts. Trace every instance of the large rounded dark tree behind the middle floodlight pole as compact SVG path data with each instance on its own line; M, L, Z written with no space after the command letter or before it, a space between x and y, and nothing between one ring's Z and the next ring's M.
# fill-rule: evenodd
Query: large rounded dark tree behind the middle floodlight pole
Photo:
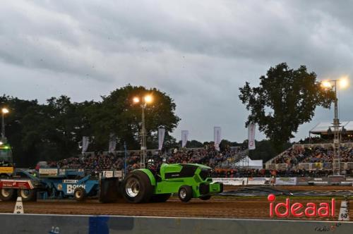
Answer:
M118 147L126 142L128 149L140 146L141 113L140 104L133 104L133 97L152 95L152 103L145 107L145 128L148 145L155 146L158 127L171 133L180 121L175 114L176 105L171 97L157 89L126 85L102 97L102 101L85 109L85 116L91 125L91 135L95 136L97 149L106 149L109 133L118 139Z

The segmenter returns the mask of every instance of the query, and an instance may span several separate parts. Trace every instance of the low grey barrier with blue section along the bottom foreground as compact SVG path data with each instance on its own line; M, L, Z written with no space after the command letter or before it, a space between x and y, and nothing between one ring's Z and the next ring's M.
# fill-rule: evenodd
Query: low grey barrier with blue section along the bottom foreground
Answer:
M162 218L0 214L6 233L351 233L353 222L237 218Z

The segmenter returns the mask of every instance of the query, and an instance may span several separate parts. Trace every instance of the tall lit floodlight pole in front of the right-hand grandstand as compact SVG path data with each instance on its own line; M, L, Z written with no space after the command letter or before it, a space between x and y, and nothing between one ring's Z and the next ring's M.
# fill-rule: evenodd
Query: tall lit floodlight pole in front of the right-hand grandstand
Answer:
M341 174L341 156L340 156L340 120L338 119L338 98L337 98L337 82L340 87L345 88L348 86L347 78L340 80L325 80L321 85L325 89L334 89L335 91L335 117L333 118L333 174L337 171L337 176ZM338 165L338 167L336 167Z

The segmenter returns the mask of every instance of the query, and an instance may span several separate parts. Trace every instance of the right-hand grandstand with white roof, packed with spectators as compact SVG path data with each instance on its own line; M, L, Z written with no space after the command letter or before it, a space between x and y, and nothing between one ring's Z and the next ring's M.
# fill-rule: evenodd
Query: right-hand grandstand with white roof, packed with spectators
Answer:
M299 144L294 144L285 152L267 161L265 168L277 171L332 172L333 166L338 165L333 160L332 125L330 122L318 123L309 131L309 138L299 141ZM353 121L340 123L340 142L342 174L351 174L353 170Z

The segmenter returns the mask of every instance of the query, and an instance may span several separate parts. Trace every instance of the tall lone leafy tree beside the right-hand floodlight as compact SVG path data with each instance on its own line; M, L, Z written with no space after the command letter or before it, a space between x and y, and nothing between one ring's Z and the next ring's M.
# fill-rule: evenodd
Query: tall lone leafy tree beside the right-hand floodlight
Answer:
M246 82L239 90L239 99L251 112L246 126L257 123L277 152L294 137L299 125L311 121L316 106L330 108L334 99L333 92L322 89L316 74L308 73L306 66L294 70L287 63L271 67L260 77L258 87Z

